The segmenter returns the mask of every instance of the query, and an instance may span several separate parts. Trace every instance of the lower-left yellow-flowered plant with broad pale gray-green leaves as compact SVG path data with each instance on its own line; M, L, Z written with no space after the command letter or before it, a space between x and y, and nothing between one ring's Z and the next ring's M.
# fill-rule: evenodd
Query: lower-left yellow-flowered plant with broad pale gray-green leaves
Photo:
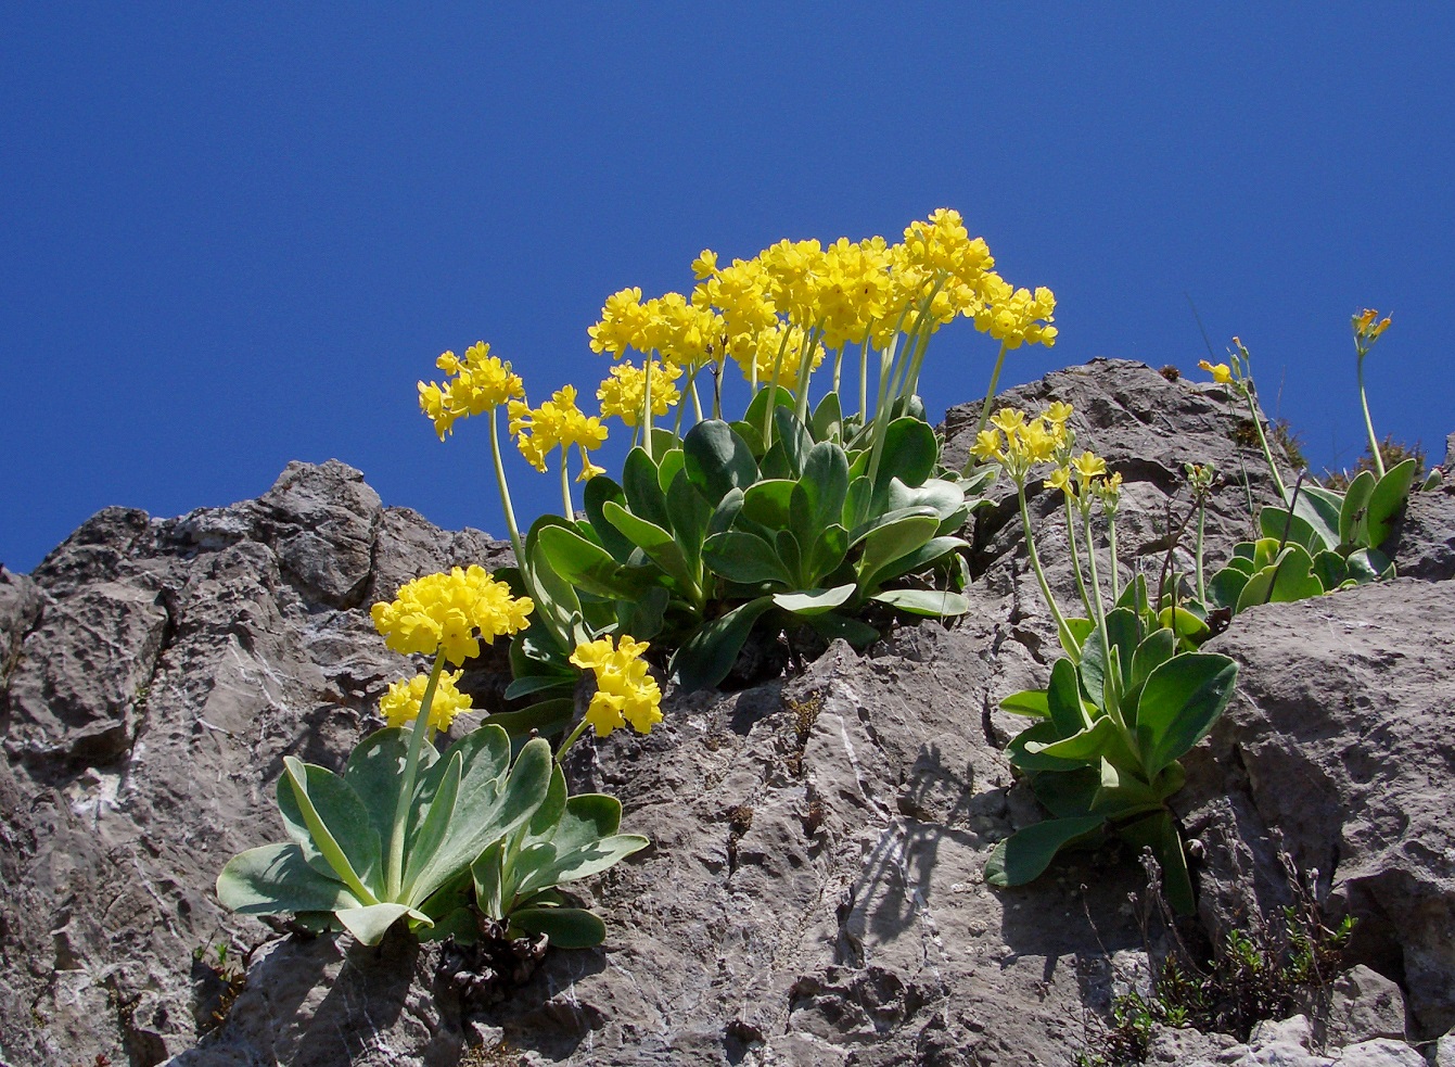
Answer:
M528 859L518 860L533 872L530 907L490 917L509 920L512 936L599 943L601 920L562 907L554 886L646 846L615 833L620 805L608 796L567 801L544 739L521 745L514 764L511 739L496 725L442 754L432 744L470 706L454 686L460 673L444 665L479 655L482 640L519 633L533 607L479 566L426 575L393 603L375 604L386 643L434 655L431 673L390 687L380 702L390 725L359 742L342 774L284 758L278 808L290 840L230 860L217 879L218 900L242 914L292 914L311 929L338 923L365 945L400 919L426 936L471 939L479 930L471 866L502 850L515 860L530 844Z

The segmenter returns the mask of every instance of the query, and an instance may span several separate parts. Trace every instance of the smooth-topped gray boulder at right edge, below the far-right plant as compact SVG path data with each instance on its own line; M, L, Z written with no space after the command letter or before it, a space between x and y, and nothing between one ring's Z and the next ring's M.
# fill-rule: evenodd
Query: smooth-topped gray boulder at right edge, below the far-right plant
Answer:
M1286 904L1286 850L1359 926L1350 962L1403 978L1420 1035L1455 1022L1448 722L1455 584L1400 578L1254 607L1206 645L1237 696L1174 799L1202 840L1200 914L1221 942Z

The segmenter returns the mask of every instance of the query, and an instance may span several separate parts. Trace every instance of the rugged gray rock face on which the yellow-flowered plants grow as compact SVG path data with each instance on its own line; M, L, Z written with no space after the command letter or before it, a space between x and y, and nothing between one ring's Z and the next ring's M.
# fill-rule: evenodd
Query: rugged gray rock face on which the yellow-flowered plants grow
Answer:
M1234 479L1209 556L1245 536L1238 479L1266 495L1266 473L1229 440L1221 390L1097 361L1010 396L1049 399L1075 403L1081 444L1128 480L1132 568L1161 566L1186 460ZM952 454L965 421L952 412ZM1048 559L1064 555L1051 493L1033 511ZM1040 818L1001 753L1024 723L997 702L1040 684L1055 649L1013 511L982 512L975 536L984 575L956 626L671 696L650 737L582 745L573 788L620 796L624 828L653 846L582 888L602 949L551 951L506 1000L467 1010L436 948L279 939L221 911L212 884L278 837L282 757L342 764L412 673L368 604L419 574L498 566L508 546L383 507L339 463L291 464L256 501L176 520L99 512L29 578L0 572L0 1061L453 1067L482 1042L501 1063L1071 1063L1133 964L1167 946L1125 854L984 885L995 841ZM1059 560L1052 581L1075 595ZM1202 924L1216 942L1286 900L1280 843L1318 869L1331 916L1359 917L1366 969L1312 1022L1243 1045L1163 1029L1152 1061L1406 1063L1398 1038L1448 1028L1452 591L1408 578L1257 608L1218 639L1244 664L1240 696L1180 798L1203 846ZM486 703L498 671L467 674ZM246 983L218 974L218 945Z

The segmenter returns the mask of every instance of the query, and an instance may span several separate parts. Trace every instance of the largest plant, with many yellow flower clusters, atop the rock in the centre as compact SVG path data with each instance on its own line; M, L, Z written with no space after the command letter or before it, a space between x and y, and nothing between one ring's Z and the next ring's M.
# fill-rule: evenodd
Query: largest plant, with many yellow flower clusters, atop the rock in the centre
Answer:
M531 703L496 721L572 731L578 649L605 639L620 639L618 652L630 639L694 689L720 683L755 630L863 648L896 616L965 611L959 531L989 473L941 464L915 394L925 349L957 317L1000 342L984 424L1005 354L1056 336L1052 293L1014 288L994 265L949 210L893 245L783 240L730 263L704 250L690 294L607 298L588 329L591 348L615 361L597 390L599 416L576 408L569 386L528 408L511 365L483 342L464 360L442 355L447 378L419 384L420 408L441 438L489 412L517 558L502 576L537 606L512 642L506 691ZM741 389L726 380L729 362L746 386L739 418L728 410ZM845 367L857 406L842 392ZM537 469L560 448L562 514L524 536L501 463L501 405ZM620 479L586 454L610 418L631 434ZM572 448L585 479L579 520ZM647 642L659 651L646 654Z

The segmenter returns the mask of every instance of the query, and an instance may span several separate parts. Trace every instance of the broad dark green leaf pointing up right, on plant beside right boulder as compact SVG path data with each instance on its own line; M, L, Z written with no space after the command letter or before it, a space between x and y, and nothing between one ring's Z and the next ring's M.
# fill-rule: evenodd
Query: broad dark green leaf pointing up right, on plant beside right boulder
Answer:
M1155 668L1136 705L1136 741L1148 777L1197 744L1222 715L1238 680L1225 655L1187 652Z

